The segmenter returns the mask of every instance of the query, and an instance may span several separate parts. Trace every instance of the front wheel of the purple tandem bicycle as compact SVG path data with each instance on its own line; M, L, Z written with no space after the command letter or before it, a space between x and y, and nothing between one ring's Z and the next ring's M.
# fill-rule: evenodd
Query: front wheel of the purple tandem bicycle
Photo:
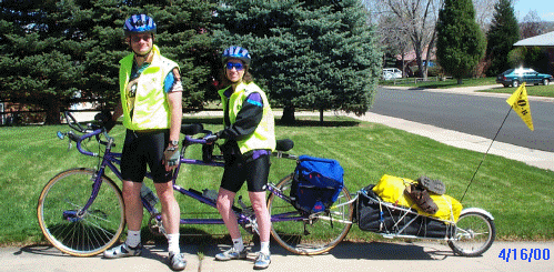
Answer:
M107 177L92 204L95 171L71 169L52 178L39 198L37 216L44 236L60 251L75 256L99 254L112 246L124 224L121 190Z

